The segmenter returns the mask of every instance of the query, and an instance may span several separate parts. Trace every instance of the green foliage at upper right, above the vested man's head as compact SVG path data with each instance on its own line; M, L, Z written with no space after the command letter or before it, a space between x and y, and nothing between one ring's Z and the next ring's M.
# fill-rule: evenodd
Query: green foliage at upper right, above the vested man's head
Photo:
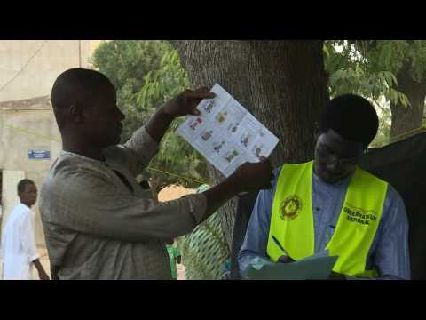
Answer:
M422 40L329 40L324 44L330 96L359 94L375 103L380 127L372 146L390 140L390 103L410 108L398 91L397 75L408 72L420 83L426 76L426 41ZM383 100L384 97L384 100Z

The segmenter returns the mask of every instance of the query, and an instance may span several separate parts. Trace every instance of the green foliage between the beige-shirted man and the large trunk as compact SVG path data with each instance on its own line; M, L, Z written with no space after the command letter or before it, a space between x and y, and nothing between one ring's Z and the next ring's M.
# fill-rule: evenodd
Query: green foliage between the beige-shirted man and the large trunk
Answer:
M146 124L156 108L189 88L177 51L165 41L104 42L94 52L92 63L117 89L117 104L126 116L122 142ZM182 121L170 126L150 164L160 172L151 170L144 177L154 182L157 191L170 184L193 188L200 185L193 180L209 181L205 160L174 133Z

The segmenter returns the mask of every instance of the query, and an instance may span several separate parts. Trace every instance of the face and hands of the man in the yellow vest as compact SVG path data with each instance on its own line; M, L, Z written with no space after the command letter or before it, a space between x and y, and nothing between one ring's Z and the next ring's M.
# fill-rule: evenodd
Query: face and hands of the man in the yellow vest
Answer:
M362 143L343 138L330 129L327 132L316 132L315 159L313 171L319 179L333 184L355 171L359 159L367 148ZM281 256L280 263L293 262L288 256ZM330 280L344 280L345 276L332 271Z

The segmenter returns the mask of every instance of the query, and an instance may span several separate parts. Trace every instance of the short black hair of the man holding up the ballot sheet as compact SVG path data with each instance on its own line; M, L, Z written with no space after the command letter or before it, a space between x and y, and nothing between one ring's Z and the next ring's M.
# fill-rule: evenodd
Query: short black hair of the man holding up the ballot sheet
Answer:
M90 103L107 85L114 87L105 75L95 70L70 68L62 72L51 88L51 105L59 129L64 124L67 108L75 103Z

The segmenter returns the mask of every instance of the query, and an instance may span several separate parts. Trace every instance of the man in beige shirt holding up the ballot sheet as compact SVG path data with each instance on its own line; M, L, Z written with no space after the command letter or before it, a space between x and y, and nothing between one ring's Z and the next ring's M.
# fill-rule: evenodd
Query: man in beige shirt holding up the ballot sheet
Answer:
M124 116L114 85L97 71L62 73L51 102L63 151L41 188L40 212L53 279L171 279L165 243L189 233L233 196L270 188L272 166L242 164L217 186L158 203L135 177L177 116L198 115L214 93L185 91L117 145Z

